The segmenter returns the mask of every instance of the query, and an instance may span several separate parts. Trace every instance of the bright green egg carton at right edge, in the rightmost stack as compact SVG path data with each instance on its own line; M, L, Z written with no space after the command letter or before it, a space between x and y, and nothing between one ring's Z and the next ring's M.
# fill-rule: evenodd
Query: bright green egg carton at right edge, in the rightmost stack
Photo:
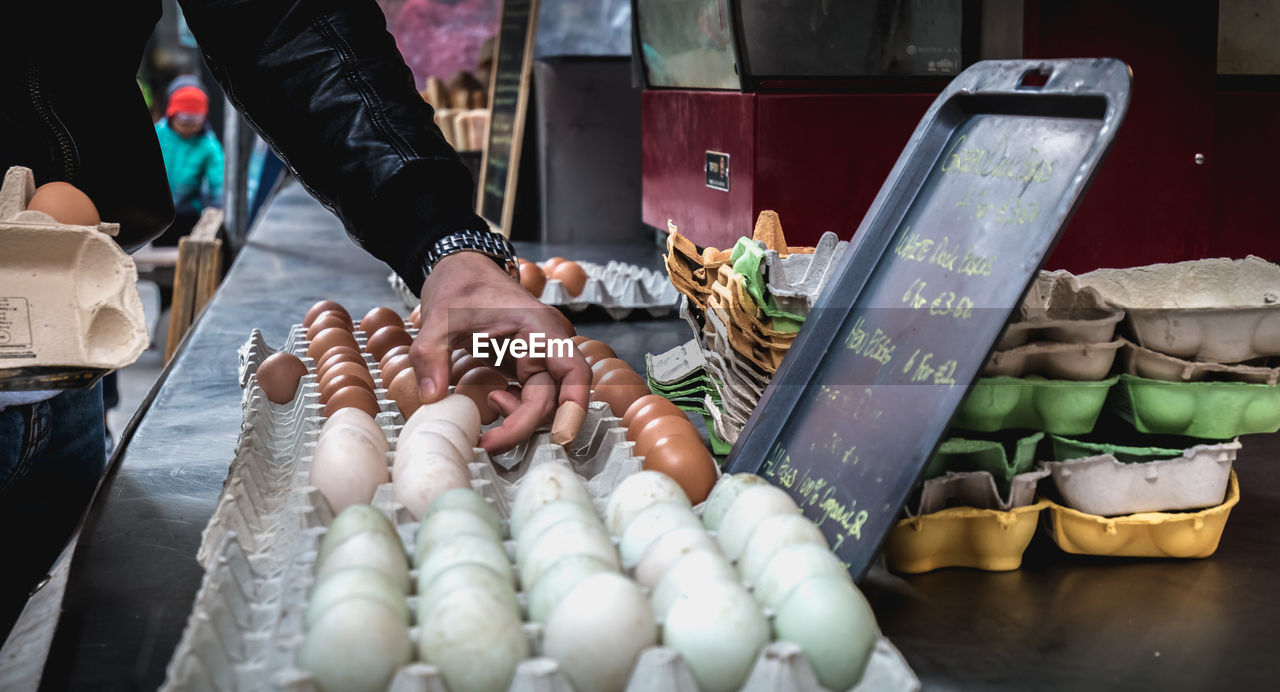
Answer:
M1121 375L1108 404L1139 432L1229 440L1280 430L1280 386Z

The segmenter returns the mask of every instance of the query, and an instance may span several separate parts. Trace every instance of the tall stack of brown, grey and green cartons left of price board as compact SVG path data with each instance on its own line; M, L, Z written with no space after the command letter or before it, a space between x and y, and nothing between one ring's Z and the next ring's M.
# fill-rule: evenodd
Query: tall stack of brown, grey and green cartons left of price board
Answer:
M667 274L694 340L649 357L649 386L703 413L717 453L737 440L846 247L832 233L813 248L788 247L772 211L732 251L667 238Z

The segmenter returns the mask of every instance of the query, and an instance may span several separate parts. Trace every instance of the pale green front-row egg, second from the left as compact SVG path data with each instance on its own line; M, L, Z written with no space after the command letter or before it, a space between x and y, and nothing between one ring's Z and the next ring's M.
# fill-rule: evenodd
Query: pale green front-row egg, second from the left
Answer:
M506 692L529 657L520 615L483 588L444 596L420 627L419 655L440 669L451 692Z

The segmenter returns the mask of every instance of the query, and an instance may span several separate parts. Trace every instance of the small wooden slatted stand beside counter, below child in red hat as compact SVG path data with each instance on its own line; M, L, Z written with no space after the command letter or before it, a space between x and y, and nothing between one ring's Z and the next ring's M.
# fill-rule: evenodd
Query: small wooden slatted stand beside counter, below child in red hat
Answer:
M223 270L223 242L218 239L221 225L223 210L206 208L196 221L196 226L191 229L191 234L178 239L178 265L174 267L165 362L173 358L191 324L218 290Z

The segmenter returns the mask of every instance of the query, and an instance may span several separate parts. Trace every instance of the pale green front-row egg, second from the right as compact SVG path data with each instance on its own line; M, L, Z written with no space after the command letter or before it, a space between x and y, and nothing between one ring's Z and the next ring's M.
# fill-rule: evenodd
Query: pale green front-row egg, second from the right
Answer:
M771 634L751 595L727 581L691 586L662 624L662 645L680 652L703 692L741 688Z

